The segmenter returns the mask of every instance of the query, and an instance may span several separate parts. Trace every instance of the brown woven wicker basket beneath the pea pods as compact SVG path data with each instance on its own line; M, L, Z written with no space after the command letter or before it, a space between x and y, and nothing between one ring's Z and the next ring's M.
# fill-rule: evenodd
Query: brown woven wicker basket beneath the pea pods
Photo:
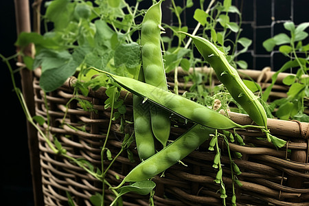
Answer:
M261 75L259 75L261 76ZM172 77L172 75L171 75ZM43 91L38 86L39 75L34 78L34 95L36 114L47 117ZM65 104L73 97L72 83L75 78L69 78L62 87L47 94L49 106L49 129L52 135L67 150L71 157L87 159L93 165L100 167L100 146L106 137L108 121L111 111L104 110L106 100L105 89L90 91L84 98L92 102L98 113L82 110L77 102L71 102L63 126L60 122L64 118ZM181 85L181 84L180 84ZM173 84L170 83L172 87ZM284 92L283 92L284 93ZM127 108L126 119L132 121L132 95L122 92ZM229 113L233 121L240 124L251 124L247 115ZM70 126L84 127L84 130L74 130ZM113 122L112 133L108 139L107 148L113 157L119 152L124 135L120 132L119 122ZM256 139L262 137L258 130L242 130L246 146L230 144L232 151L242 153L242 159L233 158L242 174L238 176L242 187L236 186L238 205L309 205L309 163L308 136L309 124L297 121L282 121L268 119L271 133L286 139L288 144L284 148L276 149L267 141ZM171 139L179 137L190 124L175 125L171 129ZM133 125L125 128L128 132ZM73 196L76 205L91 205L89 198L96 192L102 192L102 183L87 174L69 160L55 155L49 149L45 139L38 134L41 158L41 174L45 205L67 205L66 191ZM52 137L51 137L52 139ZM219 187L214 182L216 169L212 168L214 152L207 148L208 142L183 159L182 164L173 165L165 171L165 176L154 178L155 205L222 205ZM227 205L231 200L231 171L229 157L224 144L221 144L223 181L227 187ZM128 172L139 163L135 143L131 144L135 161L128 159L127 152L117 157L113 167L108 170L106 179L113 185L118 185ZM108 161L106 161L108 164ZM119 176L119 179L116 178ZM113 201L113 195L106 190L106 203ZM139 196L128 193L123 196L124 205L149 205L149 196Z

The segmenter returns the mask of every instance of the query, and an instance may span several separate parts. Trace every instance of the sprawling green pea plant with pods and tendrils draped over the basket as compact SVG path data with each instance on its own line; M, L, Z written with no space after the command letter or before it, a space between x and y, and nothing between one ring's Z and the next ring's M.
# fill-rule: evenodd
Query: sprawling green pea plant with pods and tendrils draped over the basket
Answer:
M268 131L267 116L260 98L256 97L242 82L235 69L236 67L247 68L247 63L238 60L238 56L246 52L251 45L248 38L240 37L241 14L235 6L231 5L231 0L225 0L222 3L211 0L206 10L204 1L200 1L200 8L197 8L192 16L197 25L192 34L189 34L187 26L183 26L181 22L181 13L191 8L194 1L187 0L181 7L176 4L177 1L171 0L170 9L176 16L177 26L161 23L163 0L153 1L147 10L139 8L141 1L136 1L135 5L121 0L48 1L45 3L46 12L43 15L44 34L21 33L16 41L16 46L21 48L18 55L23 56L25 67L41 68L40 86L45 95L76 74L77 82L74 85L73 98L67 102L67 109L71 101L77 100L85 111L97 112L91 102L79 98L79 95L89 95L89 88L96 90L106 87L108 98L104 102L104 108L111 109L111 117L106 138L102 142L101 167L96 168L85 159L74 159L67 155L67 150L62 148L57 137L54 137L53 141L49 140L47 137L50 136L50 131L47 129L44 133L38 127L39 124L49 124L48 104L45 105L47 120L40 116L31 117L21 91L14 84L14 90L24 108L27 120L36 127L55 154L73 161L95 179L102 181L102 194L97 193L90 198L95 206L106 204L104 203L105 189L111 190L115 196L111 205L122 205L121 197L128 192L149 195L150 205L154 205L155 182L152 178L157 174L164 174L164 171L175 163L181 163L181 159L207 140L209 140L208 149L216 152L212 165L216 172L214 182L220 188L223 205L227 204L227 192L225 183L222 181L220 141L227 147L233 180L231 204L236 205L235 185L241 186L237 178L241 172L233 161L229 143L244 145L237 130L260 129L265 133L268 141L275 146L282 147L286 144L284 140L271 135ZM231 15L238 16L240 21L238 23L231 21ZM307 25L303 25L298 30L304 32L306 27ZM291 25L289 28L292 32ZM293 30L294 37L291 38L293 41L290 43L295 42L297 28ZM163 34L167 30L172 32L172 36ZM197 34L198 31L201 32ZM230 39L231 34L236 34L234 41ZM299 37L296 39L299 40ZM23 49L30 43L35 47L34 58L23 54ZM237 49L239 46L242 49ZM194 47L200 52L201 58L196 58L194 55ZM300 43L297 47L291 44L289 52L295 53L296 56L295 49L306 50L307 47ZM281 50L286 51L284 54L289 53L288 47L282 47ZM7 62L14 82L14 71L8 63L10 58L3 56L1 58ZM308 62L306 58L305 60ZM295 61L302 62L300 67L304 68L294 79L299 80L297 84L293 83L298 85L292 85L294 90L299 89L299 84L304 83L304 80L301 80L301 74L307 72L304 59L297 57ZM295 61L291 61L290 64L294 64ZM179 95L177 74L179 66L189 71L192 67L206 64L214 68L222 85L210 91L205 89L203 85L205 74L194 70L192 74L185 77L187 81L194 80L193 86L184 95ZM174 71L174 91L169 90L166 82L165 73L170 71ZM287 78L285 82L291 82L291 78ZM121 150L112 157L110 148L106 146L111 125L116 119L121 119L122 127L128 124L124 120L126 105L124 100L119 98L119 92L123 89L133 93L132 121L135 130L134 133L126 133L122 130L124 139ZM308 93L307 90L308 86L304 88L304 93ZM267 93L264 92L263 98L266 95ZM218 104L216 109L213 109L215 100L218 99L222 104L220 106ZM218 113L220 108L227 108L226 102L229 101L248 113L257 125L236 124L229 117ZM293 100L289 99L288 102L294 105ZM187 132L174 141L169 139L172 115L184 120L185 123L193 124ZM60 126L67 125L75 130L86 131L84 128L71 126L65 122L65 119L63 117ZM133 141L137 145L141 163L133 168L119 185L111 185L106 179L106 172L122 152L126 151L128 159L133 160L129 148ZM155 141L159 141L161 147L157 148ZM240 156L241 154L238 153L237 157ZM107 167L103 163L104 159L110 161ZM128 182L130 182L129 185L125 184ZM69 205L74 205L71 194L67 193L67 196Z

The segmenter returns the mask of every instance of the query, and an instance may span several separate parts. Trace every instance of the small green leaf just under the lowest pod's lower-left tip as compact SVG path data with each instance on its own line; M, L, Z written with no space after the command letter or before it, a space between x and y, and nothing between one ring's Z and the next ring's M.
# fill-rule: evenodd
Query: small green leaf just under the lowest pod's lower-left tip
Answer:
M123 194L126 194L128 192L135 192L137 194L146 195L152 192L152 190L155 188L156 183L153 181L139 181L136 183L133 183L132 185L126 185L123 187L120 187L117 192L119 196L122 196Z

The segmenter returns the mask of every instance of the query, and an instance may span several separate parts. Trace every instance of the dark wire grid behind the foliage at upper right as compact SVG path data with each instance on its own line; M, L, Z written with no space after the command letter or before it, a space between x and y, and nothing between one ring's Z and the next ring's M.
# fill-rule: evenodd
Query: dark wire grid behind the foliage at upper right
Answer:
M177 5L181 5L180 1L175 2ZM205 7L209 2L210 0L205 0ZM185 0L182 3L185 5ZM241 54L239 59L245 60L249 69L261 70L264 67L271 67L273 71L277 71L289 59L279 52L278 47L275 47L273 52L267 52L262 43L276 34L286 33L283 25L286 21L293 21L295 25L308 22L309 1L233 0L232 5L236 5L242 13L241 36L253 41L249 50L245 54ZM182 14L183 23L189 27L189 32L192 32L196 26L196 21L193 19L196 8L199 8L199 1L194 1L194 7ZM163 12L168 12L168 10L163 10ZM237 17L234 20L238 22ZM172 23L177 25L175 19L172 20ZM308 39L303 43L308 43Z

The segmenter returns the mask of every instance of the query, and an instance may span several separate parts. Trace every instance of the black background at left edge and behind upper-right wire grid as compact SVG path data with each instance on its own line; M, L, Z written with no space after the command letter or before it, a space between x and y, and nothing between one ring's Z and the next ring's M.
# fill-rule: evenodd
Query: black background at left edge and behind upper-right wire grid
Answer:
M180 1L176 1L176 3L178 2ZM198 6L198 2L194 0L196 6ZM283 23L285 21L292 20L295 25L309 21L309 1L234 0L233 5L237 5L242 12L242 28L244 29L242 36L253 40L253 45L241 58L248 62L249 69L260 70L266 66L271 66L273 70L279 69L286 58L276 51L271 54L266 52L262 47L262 42L275 34L284 32ZM182 16L183 21L187 22L192 30L196 25L196 22L192 21L194 9L187 10ZM14 47L16 41L14 1L0 1L0 24L0 54L5 57L12 56L16 50ZM10 62L16 69L14 60ZM8 68L3 62L0 64L3 76L1 80L1 119L4 123L1 124L0 144L1 205L34 205L25 116L16 94L12 91ZM15 78L17 87L21 87L19 73L16 73Z

